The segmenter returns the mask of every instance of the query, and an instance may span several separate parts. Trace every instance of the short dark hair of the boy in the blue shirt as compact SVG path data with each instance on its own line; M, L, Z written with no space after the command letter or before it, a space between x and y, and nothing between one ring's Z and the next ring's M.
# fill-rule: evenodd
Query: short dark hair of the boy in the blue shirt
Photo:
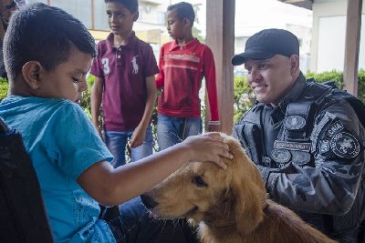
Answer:
M96 56L95 40L77 18L57 7L26 5L12 16L5 34L7 75L15 81L29 61L37 61L51 71L68 60L72 46Z

